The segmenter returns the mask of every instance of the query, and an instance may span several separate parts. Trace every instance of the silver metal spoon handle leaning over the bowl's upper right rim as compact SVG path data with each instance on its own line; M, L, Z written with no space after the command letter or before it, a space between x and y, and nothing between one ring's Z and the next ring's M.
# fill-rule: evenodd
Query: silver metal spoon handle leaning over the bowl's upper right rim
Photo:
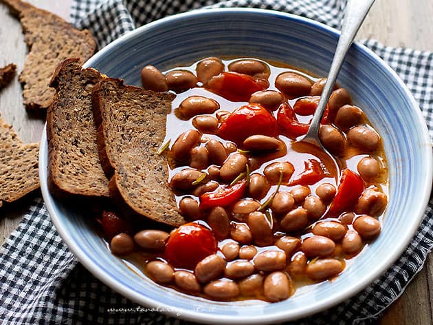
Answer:
M331 69L329 70L318 107L313 116L313 120L311 120L311 125L305 138L317 139L320 120L322 120L322 115L326 103L329 101L329 96L331 96L335 81L337 81L337 75L342 68L344 57L348 49L351 48L353 39L355 39L355 35L366 18L373 2L375 2L375 0L349 0L346 5L342 30L340 38L338 39L337 48L335 49L334 59L331 63Z

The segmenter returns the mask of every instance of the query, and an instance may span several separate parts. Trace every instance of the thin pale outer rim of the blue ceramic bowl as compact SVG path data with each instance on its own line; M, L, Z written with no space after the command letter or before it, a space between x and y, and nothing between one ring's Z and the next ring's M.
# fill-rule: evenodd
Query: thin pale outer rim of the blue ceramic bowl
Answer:
M318 21L313 21L312 19L308 19L305 17L300 17L296 14L290 14L286 12L280 12L275 10L267 10L267 9L256 9L256 8L214 8L214 9L197 9L192 10L190 12L184 12L180 14L173 14L169 17L164 17L162 19L158 19L156 21L153 21L151 23L147 23L146 25L141 26L140 28L137 28L131 32L128 32L124 34L123 36L120 36L120 38L116 39L115 41L109 43L107 46L102 48L99 52L94 54L84 65L83 67L91 67L94 61L98 61L98 59L101 56L104 56L108 52L110 52L111 48L115 48L118 44L127 41L128 39L133 38L137 34L145 33L146 30L153 28L157 25L164 25L164 23L168 21L177 21L177 19L184 19L184 18L192 18L196 15L203 15L203 14L213 14L215 12L218 13L255 13L255 14L267 14L271 16L277 16L277 17L285 17L286 19L292 19L295 21L301 21L303 23L307 23L309 25L313 25L315 28L320 28L326 32L329 32L331 34L334 34L335 36L338 36L340 32L336 30L335 28L331 28L328 25L325 25L324 23L320 23ZM387 269L392 266L392 264L395 263L397 258L403 253L403 251L408 247L408 244L412 240L414 234L416 233L417 229L419 228L419 224L423 220L423 213L428 205L428 201L430 199L430 191L432 190L432 180L433 180L433 155L432 153L432 141L430 139L430 135L428 134L428 128L425 124L425 120L421 114L421 109L419 109L419 105L415 101L414 97L410 93L410 90L408 90L408 87L401 81L401 78L397 75L397 73L389 67L387 63L385 63L377 54L375 54L372 50L366 48L366 46L354 43L353 46L357 47L358 50L364 52L368 56L371 56L377 63L379 63L382 67L384 67L392 76L396 79L396 81L399 83L402 90L404 90L406 97L410 101L412 108L414 112L417 114L417 120L419 125L423 125L421 136L423 140L425 140L425 151L430 151L430 154L427 154L426 157L428 158L428 161L425 161L425 179L427 182L425 182L425 188L422 189L423 193L425 193L425 196L422 198L420 204L418 205L418 209L414 211L413 215L417 218L417 222L412 222L411 227L409 229L411 236L408 236L408 238L405 238L399 244L397 244L396 247L390 252L389 255L384 257L386 259L386 268L384 269L377 269L374 272L372 272L368 277L365 277L361 281L357 282L357 284L353 285L351 289L348 289L347 291L342 291L340 295L336 297L335 300L332 300L331 302L329 300L324 300L318 304L314 304L314 308L311 308L311 306L306 306L305 308L302 308L300 311L290 311L289 313L285 311L279 311L277 313L273 313L271 315L263 314L263 315L254 315L252 317L243 315L242 317L238 316L232 316L232 315L220 315L220 314L212 314L212 313L200 313L199 311L193 311L192 309L184 309L182 310L181 315L179 315L178 311L170 310L170 306L164 304L164 302L158 302L157 300L153 300L151 297L146 297L144 295L140 295L138 293L135 293L134 291L130 291L129 289L126 289L124 286L121 286L118 284L115 277L110 277L104 273L103 269L98 268L98 266L94 265L91 259L89 259L86 255L86 253L75 244L74 240L71 238L69 233L67 232L67 229L62 227L62 222L60 218L56 215L55 209L54 209L54 200L50 197L48 188L47 188L47 161L44 162L45 157L48 155L47 150L47 136L46 136L46 124L43 129L43 135L41 138L41 147L39 152L39 177L41 180L41 191L42 196L45 201L45 205L47 207L47 211L49 213L50 218L52 219L52 222L54 223L54 226L56 227L56 230L60 234L60 237L63 239L65 244L67 244L67 247L71 250L72 253L76 256L78 261L80 261L86 269L88 269L93 275L95 275L99 280L101 280L104 284L111 287L114 291L120 293L121 295L124 295L124 297L128 297L129 299L133 300L134 302L137 302L138 304L144 304L146 306L150 306L152 308L160 308L162 313L169 315L171 317L179 317L181 319L187 319L194 322L201 322L201 323L208 323L208 324L224 324L227 322L231 322L232 324L265 324L265 323L271 323L271 322L281 322L284 320L294 320L299 319L300 317L307 317L309 315L313 315L315 313L319 313L320 311L324 311L326 308L331 308L332 306L335 306L339 304L340 302L348 299L349 297L352 297L353 295L359 293L359 291L362 291L362 289L365 289L366 286L371 284L374 280L376 280L382 273L384 273ZM41 168L43 167L43 168ZM173 307L171 307L173 309Z

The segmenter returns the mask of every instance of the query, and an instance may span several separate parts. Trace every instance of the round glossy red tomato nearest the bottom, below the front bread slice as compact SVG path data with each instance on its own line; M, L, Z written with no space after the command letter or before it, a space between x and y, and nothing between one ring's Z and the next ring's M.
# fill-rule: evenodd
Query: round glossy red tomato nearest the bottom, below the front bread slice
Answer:
M171 266L193 270L198 262L216 253L217 249L218 244L209 229L189 222L170 234L164 257Z

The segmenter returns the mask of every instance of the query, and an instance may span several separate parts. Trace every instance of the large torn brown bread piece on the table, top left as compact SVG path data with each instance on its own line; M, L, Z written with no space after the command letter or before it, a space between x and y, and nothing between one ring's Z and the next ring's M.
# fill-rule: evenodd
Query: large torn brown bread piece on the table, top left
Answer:
M24 105L27 109L46 109L54 90L48 87L56 67L65 59L87 61L96 50L96 43L87 30L76 30L64 19L35 8L21 0L0 0L19 17L25 43L30 48L19 81L23 83Z

